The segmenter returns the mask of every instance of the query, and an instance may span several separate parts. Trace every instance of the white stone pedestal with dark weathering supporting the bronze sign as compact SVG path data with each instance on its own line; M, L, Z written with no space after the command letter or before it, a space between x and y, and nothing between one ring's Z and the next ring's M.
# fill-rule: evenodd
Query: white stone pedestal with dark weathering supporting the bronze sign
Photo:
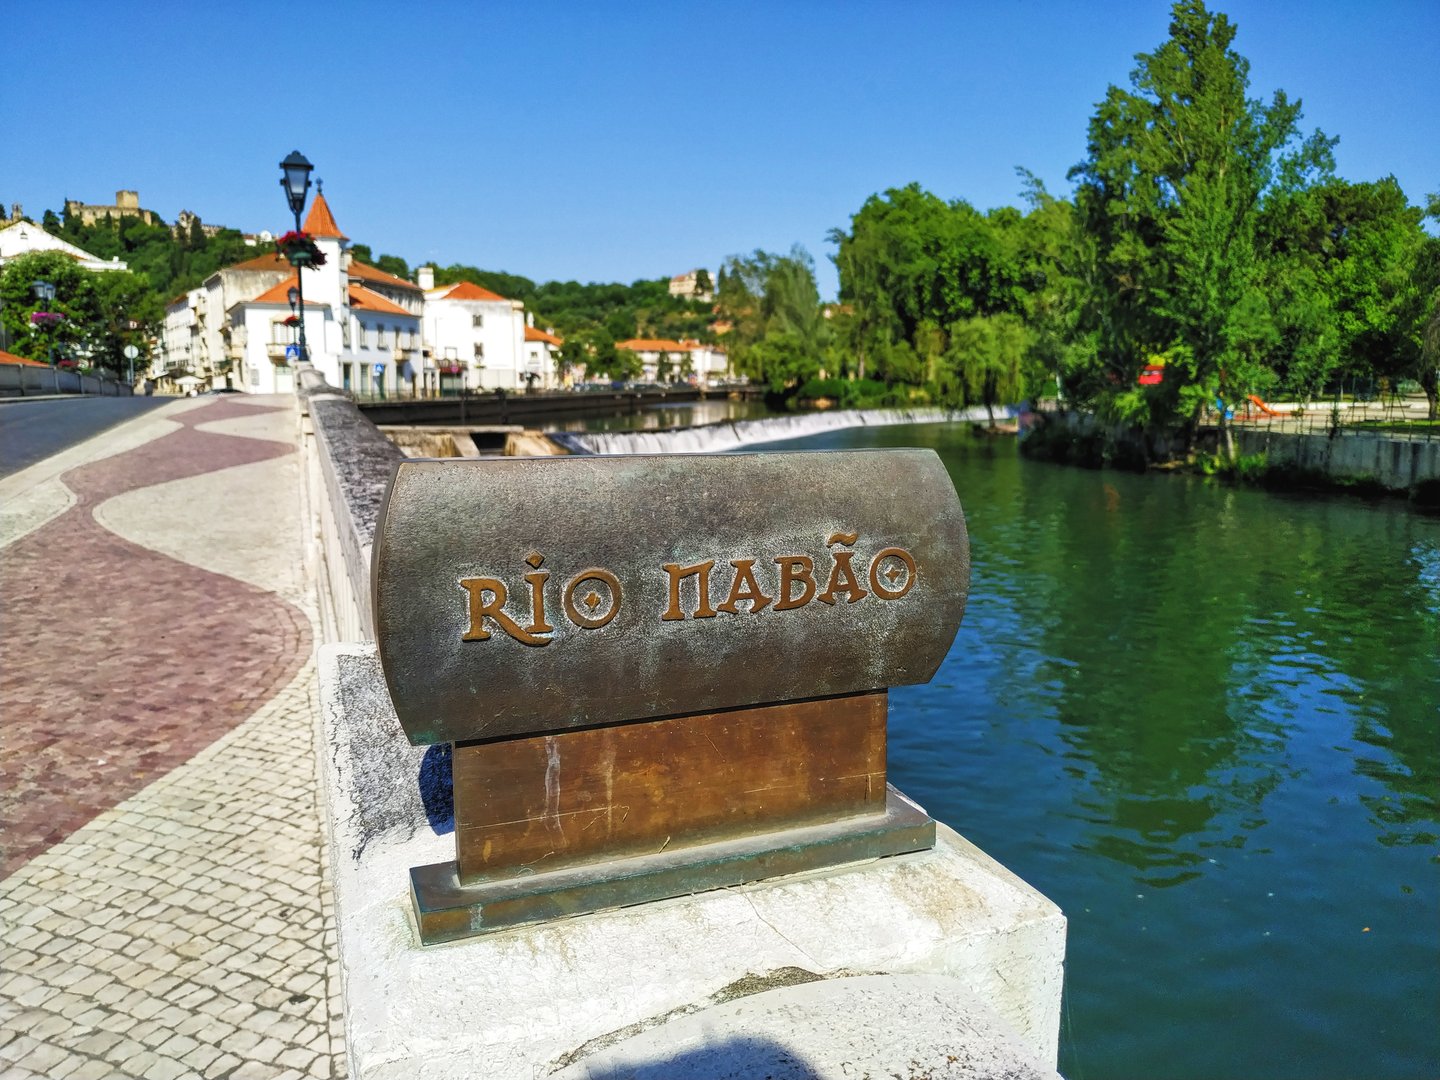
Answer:
M943 825L933 851L422 948L408 871L454 858L425 752L373 645L325 647L320 683L353 1080L1054 1074L1064 916Z

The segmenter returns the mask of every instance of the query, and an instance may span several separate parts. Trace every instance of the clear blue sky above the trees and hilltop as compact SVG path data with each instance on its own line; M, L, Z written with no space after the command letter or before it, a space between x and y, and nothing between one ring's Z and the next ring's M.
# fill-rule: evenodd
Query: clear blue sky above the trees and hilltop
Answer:
M1440 192L1440 0L1230 0L1251 94L1339 135L1341 176ZM301 150L340 228L412 265L634 281L802 243L919 181L1053 192L1166 36L1146 3L9 3L0 200L137 189L287 228Z

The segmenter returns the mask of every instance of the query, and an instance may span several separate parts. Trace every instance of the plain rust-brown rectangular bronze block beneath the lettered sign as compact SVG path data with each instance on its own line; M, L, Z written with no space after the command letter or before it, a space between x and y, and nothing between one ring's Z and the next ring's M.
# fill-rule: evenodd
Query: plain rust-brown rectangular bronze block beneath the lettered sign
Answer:
M455 746L464 883L886 808L886 694Z

